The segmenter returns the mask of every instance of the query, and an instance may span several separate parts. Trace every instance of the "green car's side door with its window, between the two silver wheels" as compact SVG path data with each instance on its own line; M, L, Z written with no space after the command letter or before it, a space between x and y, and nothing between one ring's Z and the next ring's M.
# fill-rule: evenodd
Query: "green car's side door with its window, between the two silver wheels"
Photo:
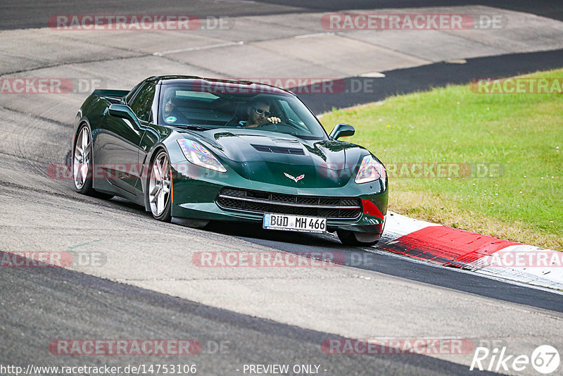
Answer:
M142 196L139 179L143 169L139 165L139 144L148 123L152 121L152 106L156 82L147 81L127 104L137 118L127 119L107 115L110 142L106 141L108 180L125 192L123 196L138 201ZM108 145L110 149L108 150Z

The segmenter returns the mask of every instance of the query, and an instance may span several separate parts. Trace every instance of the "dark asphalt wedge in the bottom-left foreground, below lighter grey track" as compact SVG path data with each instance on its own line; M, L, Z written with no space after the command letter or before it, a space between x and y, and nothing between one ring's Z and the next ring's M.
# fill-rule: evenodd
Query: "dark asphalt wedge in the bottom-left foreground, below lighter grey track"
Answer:
M322 351L323 341L346 339L63 268L3 269L0 361L4 365L25 369L29 364L122 368L179 364L182 368L196 365L196 375L226 376L243 375L245 364L318 365L318 374L329 376L474 374L464 365L414 353L390 353L385 346L379 350L383 353L373 355L327 354ZM63 351L49 347L52 341L70 339L192 339L201 344L201 352L58 355Z

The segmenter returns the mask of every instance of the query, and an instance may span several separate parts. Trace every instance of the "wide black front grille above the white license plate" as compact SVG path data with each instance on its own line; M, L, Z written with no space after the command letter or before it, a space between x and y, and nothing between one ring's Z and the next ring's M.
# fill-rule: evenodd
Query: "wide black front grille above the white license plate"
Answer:
M362 203L356 197L301 196L223 188L215 201L222 209L247 213L312 215L348 220L359 218L362 214Z

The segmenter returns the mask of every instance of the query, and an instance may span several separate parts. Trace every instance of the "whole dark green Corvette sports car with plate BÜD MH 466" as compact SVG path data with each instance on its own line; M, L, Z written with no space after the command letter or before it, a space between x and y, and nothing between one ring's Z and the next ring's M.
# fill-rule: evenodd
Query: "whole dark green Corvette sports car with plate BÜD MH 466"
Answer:
M130 91L96 90L77 113L77 192L121 196L154 218L269 230L337 232L372 245L387 211L384 165L327 134L294 94L246 81L149 77Z

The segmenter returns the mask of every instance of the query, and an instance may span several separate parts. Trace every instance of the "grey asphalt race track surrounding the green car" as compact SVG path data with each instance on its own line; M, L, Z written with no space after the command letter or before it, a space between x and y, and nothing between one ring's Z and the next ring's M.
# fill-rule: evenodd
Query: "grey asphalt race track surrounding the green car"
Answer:
M384 8L500 14L508 26L405 37L404 30L330 32L320 25L324 13ZM48 26L50 16L72 14L195 14L224 18L228 27L182 32ZM348 88L353 80L364 88L374 82L369 85L374 89L361 92L300 95L321 112L474 78L562 67L562 20L560 1L486 6L479 1L3 1L1 78L63 77L77 86L63 94L0 94L0 261L14 252L62 252L74 260L65 268L0 268L0 375L15 375L2 368L7 366L158 364L196 365L196 375L281 375L256 367L274 364L297 366L298 372L283 373L288 375L472 375L478 346L531 356L547 344L562 353L561 292L438 268L376 247L345 247L331 234L159 223L123 199L77 194L72 180L52 173L66 162L75 113L96 87L129 89L145 77L171 73L333 77ZM328 252L345 263L327 266L310 259L303 268L201 268L194 257L202 251L321 257ZM57 350L61 341L104 339L191 339L201 349L152 356ZM464 346L463 351L398 354L384 345L369 355L330 354L324 344L331 339L445 339ZM539 375L531 365L522 371L494 367L491 373Z

